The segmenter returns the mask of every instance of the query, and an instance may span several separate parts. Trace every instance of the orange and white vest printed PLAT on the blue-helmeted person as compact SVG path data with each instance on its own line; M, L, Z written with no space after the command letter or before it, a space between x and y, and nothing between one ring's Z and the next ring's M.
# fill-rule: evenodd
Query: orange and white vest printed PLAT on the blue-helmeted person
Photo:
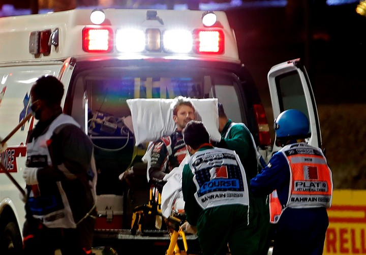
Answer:
M333 182L323 152L307 143L287 145L279 152L286 156L290 167L289 197L285 208L329 208ZM278 216L280 209L282 210L282 206L278 197L271 194L270 221L272 223L276 223L280 218Z

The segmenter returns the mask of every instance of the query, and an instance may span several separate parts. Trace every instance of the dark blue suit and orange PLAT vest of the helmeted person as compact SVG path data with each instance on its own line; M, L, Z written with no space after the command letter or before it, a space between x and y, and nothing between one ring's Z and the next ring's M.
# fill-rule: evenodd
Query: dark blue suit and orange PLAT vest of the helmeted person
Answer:
M295 160L291 155L297 156ZM329 224L326 207L330 206L331 195L313 195L313 192L322 194L324 191L307 189L309 196L296 198L295 172L305 179L303 185L308 186L324 183L319 177L328 175L324 190L331 194L331 172L326 159L319 148L306 143L290 144L273 154L268 166L251 180L251 189L255 194L266 195L277 190L283 211L276 224L273 254L322 254Z

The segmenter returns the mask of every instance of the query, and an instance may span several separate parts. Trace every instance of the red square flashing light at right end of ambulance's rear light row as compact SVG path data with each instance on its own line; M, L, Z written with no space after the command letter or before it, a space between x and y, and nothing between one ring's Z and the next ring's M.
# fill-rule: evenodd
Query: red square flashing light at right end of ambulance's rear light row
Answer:
M201 30L194 32L197 53L222 54L224 52L224 32L222 30Z

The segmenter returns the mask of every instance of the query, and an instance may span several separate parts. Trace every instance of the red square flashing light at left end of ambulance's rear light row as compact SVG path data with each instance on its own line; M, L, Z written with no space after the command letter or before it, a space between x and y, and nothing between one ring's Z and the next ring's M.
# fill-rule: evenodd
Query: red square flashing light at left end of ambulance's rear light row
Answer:
M86 52L110 52L113 49L113 30L107 26L84 27L82 43Z

